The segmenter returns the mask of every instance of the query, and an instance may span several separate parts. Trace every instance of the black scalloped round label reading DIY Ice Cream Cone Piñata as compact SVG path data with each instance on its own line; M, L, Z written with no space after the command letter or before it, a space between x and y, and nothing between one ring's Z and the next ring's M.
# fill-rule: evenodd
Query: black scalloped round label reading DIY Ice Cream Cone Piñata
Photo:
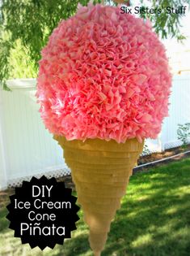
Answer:
M65 238L71 237L70 232L76 229L75 222L79 219L77 197L71 192L55 178L42 176L23 181L6 207L9 210L6 219L11 221L9 228L15 230L15 237L20 237L23 244L29 243L31 248L53 249L56 244L62 245Z

